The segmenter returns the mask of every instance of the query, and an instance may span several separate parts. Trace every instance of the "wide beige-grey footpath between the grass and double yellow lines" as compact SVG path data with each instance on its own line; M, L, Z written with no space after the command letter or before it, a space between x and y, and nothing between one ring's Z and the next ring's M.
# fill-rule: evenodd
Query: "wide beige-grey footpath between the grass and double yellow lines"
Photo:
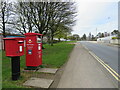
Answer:
M100 64L80 43L67 62L57 88L117 88Z

